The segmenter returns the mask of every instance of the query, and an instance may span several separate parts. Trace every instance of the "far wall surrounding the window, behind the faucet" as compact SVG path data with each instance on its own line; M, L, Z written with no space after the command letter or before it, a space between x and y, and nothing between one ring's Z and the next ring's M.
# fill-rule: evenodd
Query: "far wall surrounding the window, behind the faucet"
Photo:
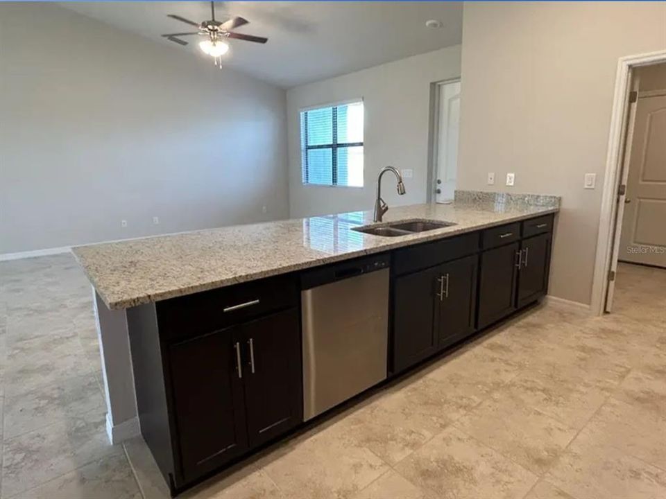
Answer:
M292 217L372 209L377 173L384 166L413 169L398 196L384 177L389 206L425 202L428 175L430 84L460 76L460 46L415 55L287 91L289 214ZM463 87L465 83L463 82ZM304 186L301 182L299 110L350 98L364 99L364 187Z

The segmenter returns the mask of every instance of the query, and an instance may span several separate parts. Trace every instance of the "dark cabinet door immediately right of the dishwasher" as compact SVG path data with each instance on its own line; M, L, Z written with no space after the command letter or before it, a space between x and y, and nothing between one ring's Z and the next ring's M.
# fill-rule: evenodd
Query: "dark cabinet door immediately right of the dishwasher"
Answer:
M437 349L434 328L438 268L395 279L393 287L393 372L402 371Z

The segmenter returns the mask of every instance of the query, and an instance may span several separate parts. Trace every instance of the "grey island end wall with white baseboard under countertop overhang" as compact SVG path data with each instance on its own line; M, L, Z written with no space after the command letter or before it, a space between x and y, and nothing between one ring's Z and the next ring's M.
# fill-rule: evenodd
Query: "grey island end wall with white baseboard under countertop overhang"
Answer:
M106 398L106 431L112 444L139 435L137 397L126 310L110 310L93 290Z

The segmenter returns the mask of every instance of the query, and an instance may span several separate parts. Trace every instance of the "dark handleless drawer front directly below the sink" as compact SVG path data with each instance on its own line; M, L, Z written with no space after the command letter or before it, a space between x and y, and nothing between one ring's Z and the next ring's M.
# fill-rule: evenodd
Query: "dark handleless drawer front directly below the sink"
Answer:
M434 267L478 250L478 232L436 240L433 243L398 249L393 256L393 269L395 274L406 274Z

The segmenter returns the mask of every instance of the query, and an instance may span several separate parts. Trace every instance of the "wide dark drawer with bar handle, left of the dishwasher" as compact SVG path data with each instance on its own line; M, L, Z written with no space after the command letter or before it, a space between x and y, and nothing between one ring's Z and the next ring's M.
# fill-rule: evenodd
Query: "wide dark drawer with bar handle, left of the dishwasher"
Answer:
M162 338L181 340L298 306L298 301L296 276L287 274L157 301L155 306Z

